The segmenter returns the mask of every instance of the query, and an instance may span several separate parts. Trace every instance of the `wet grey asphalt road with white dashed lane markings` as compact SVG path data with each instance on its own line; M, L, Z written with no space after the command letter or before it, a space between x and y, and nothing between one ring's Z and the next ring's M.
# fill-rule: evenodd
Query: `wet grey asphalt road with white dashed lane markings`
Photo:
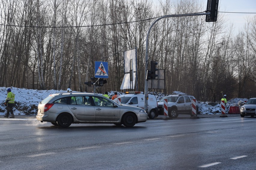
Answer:
M255 169L256 117L179 115L132 128L0 119L0 169Z

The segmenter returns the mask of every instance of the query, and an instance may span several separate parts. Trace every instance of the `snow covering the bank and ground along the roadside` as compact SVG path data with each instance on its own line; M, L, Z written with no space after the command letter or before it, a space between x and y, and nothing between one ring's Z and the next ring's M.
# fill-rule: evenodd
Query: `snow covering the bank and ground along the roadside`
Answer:
M11 91L15 94L15 107L14 114L36 114L38 103L41 102L44 98L46 98L50 94L62 93L66 92L66 90L32 90L25 88L15 88L11 87ZM75 92L75 91L73 91ZM114 92L108 92L109 96L113 96ZM117 92L118 95L124 94L123 92ZM163 93L157 92L149 92L149 94L154 94L157 98L157 101L164 97ZM172 94L185 94L180 91L174 91ZM99 94L102 95L102 94ZM6 113L6 107L4 105L5 99L7 97L7 88L0 87L0 115L4 115ZM238 106L239 100L246 101L247 99L241 98L233 98L227 99L227 110L230 106ZM216 105L215 105L216 104ZM213 105L209 105L208 102L200 102L198 101L198 108L200 114L221 114L221 105L219 103L213 103Z

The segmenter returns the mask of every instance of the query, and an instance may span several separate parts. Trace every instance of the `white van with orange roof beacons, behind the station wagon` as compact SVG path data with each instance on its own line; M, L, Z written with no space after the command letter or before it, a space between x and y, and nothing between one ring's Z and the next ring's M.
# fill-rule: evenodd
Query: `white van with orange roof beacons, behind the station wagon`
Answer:
M129 91L124 95L120 95L114 101L121 105L130 105L144 109L144 97L143 92ZM157 98L153 94L148 94L148 117L154 119L158 116L157 111Z

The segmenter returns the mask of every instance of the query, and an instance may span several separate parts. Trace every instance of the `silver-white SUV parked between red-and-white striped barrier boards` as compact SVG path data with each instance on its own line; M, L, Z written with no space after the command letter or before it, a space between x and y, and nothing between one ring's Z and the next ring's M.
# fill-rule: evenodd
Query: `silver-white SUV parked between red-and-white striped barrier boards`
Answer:
M189 94L177 94L177 95L168 95L163 97L158 104L158 114L164 115L163 113L163 101L167 99L168 102L168 116L172 118L178 117L179 114L192 114L192 99L196 99L194 96ZM198 112L198 107L197 112Z

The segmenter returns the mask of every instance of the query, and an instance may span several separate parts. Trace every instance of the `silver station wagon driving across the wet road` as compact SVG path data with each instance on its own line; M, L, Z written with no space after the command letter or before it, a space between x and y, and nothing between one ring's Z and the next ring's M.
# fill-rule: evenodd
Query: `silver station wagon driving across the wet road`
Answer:
M132 127L146 122L145 110L118 103L94 93L51 94L38 105L37 120L69 127L72 123L113 123Z

